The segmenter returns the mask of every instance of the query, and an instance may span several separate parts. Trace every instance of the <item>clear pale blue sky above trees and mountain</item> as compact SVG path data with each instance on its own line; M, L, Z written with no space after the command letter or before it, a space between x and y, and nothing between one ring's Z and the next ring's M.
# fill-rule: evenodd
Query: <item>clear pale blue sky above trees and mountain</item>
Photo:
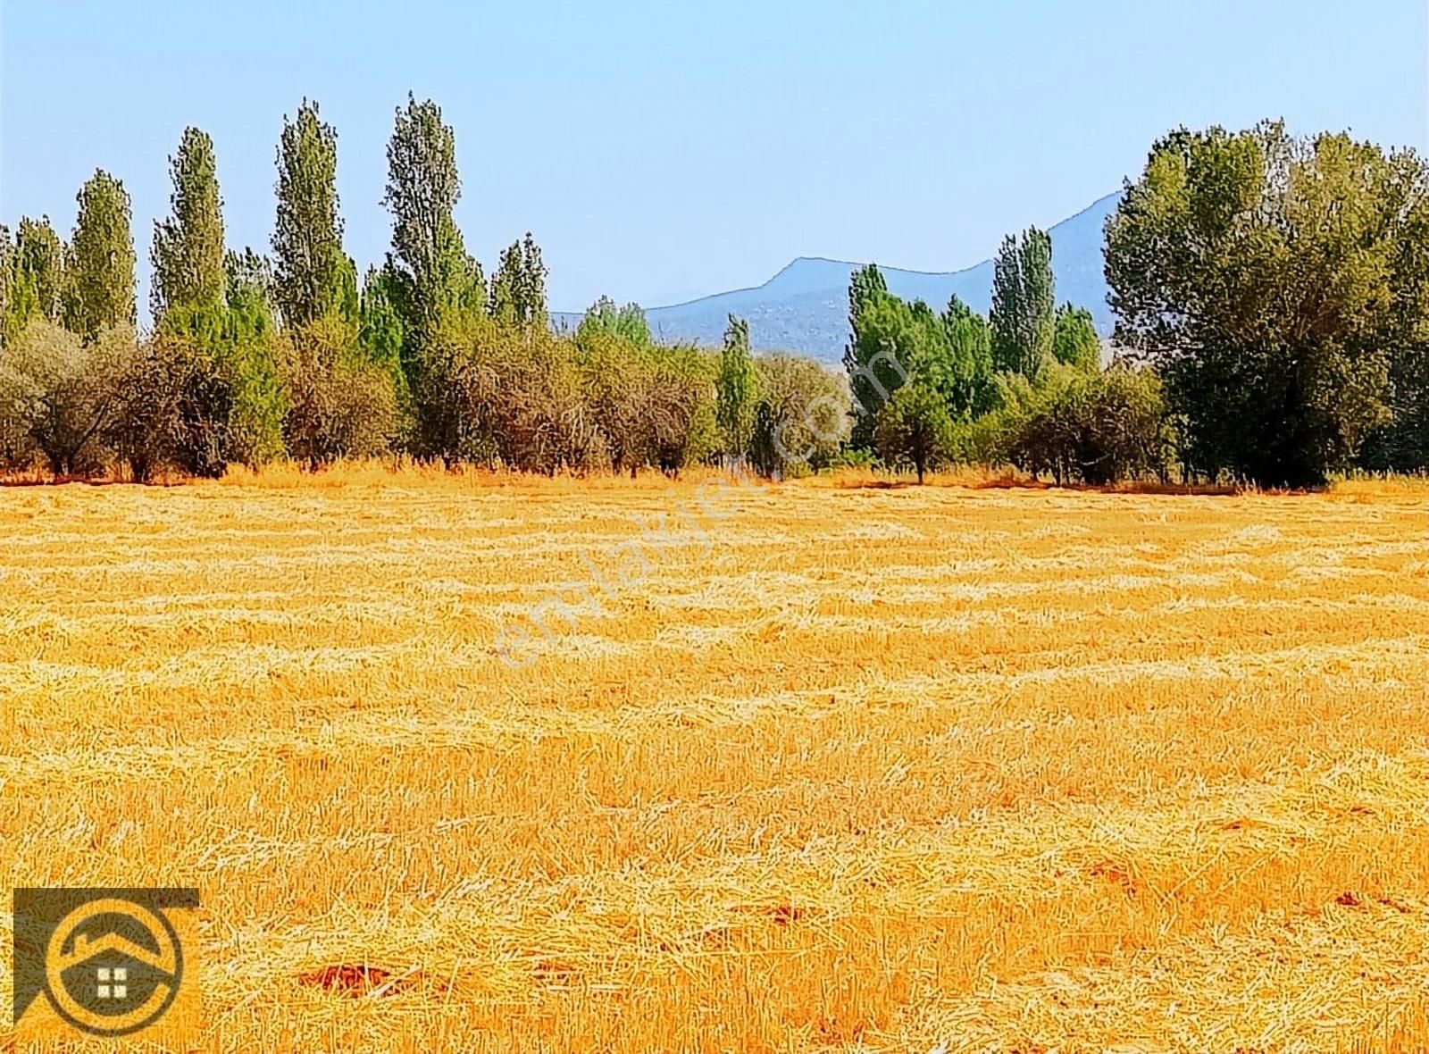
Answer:
M407 90L456 129L490 270L526 230L556 308L757 284L795 256L952 270L1135 174L1176 124L1426 146L1423 0L835 4L0 0L0 219L104 167L141 270L186 124L229 241L266 250L284 113L339 131L347 250L382 257Z

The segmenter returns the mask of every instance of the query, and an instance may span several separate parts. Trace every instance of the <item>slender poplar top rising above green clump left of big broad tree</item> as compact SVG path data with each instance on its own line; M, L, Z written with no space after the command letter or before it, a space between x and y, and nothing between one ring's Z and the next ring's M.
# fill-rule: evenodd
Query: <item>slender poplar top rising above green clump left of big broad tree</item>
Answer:
M1020 239L1005 239L992 278L992 356L997 370L1037 378L1052 360L1053 306L1050 236L1029 227Z

